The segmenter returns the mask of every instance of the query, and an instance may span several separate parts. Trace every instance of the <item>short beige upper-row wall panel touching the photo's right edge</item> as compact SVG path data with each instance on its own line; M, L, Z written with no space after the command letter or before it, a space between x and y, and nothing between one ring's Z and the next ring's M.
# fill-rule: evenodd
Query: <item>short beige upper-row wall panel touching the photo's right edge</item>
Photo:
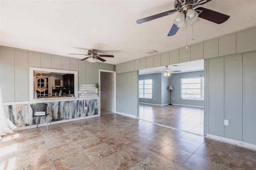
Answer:
M236 53L256 50L256 28L236 33Z

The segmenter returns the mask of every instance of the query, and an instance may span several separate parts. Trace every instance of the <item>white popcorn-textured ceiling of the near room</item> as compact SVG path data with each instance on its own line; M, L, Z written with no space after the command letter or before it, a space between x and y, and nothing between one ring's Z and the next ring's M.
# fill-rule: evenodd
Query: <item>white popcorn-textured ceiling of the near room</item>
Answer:
M174 9L174 0L160 1L0 1L0 44L9 47L84 58L90 48L106 63L118 64L186 46L186 28L174 36L172 14L143 24L136 20ZM256 0L212 0L201 7L215 10L230 19L215 24L201 19L188 28L188 45L256 26Z

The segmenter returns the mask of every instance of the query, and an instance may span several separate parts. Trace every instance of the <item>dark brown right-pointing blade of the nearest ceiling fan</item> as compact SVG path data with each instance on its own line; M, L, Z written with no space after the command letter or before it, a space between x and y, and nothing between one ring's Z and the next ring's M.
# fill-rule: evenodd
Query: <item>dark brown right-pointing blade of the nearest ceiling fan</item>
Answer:
M196 8L196 12L198 12L198 17L214 22L216 24L222 24L230 17L226 14L222 14L220 12L216 12L202 7Z

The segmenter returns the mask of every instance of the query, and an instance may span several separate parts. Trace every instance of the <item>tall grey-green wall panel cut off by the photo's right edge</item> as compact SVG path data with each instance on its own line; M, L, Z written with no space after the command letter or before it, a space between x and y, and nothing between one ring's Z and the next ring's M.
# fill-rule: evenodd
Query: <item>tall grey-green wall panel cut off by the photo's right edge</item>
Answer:
M242 141L256 144L256 51L242 55Z

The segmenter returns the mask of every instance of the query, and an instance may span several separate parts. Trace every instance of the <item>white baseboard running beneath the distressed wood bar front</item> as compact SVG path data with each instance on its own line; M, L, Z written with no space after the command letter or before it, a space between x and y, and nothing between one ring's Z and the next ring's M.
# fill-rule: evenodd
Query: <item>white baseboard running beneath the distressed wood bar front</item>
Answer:
M86 117L78 117L78 118L74 118L74 119L66 119L66 120L63 120L63 121L51 122L51 124L52 124L52 125L55 125L55 124L59 124L59 123L78 121L78 120L82 120L82 119L89 119L89 118L99 117L99 116L100 116L100 115L92 115L92 116L86 116ZM44 126L46 126L46 123L38 124L38 127L44 127ZM50 123L49 123L49 122L48 122L48 126L50 126ZM30 126L14 128L13 131L29 129L29 127L30 127ZM31 128L36 128L36 125L31 125ZM49 127L48 127L48 128L49 128Z

